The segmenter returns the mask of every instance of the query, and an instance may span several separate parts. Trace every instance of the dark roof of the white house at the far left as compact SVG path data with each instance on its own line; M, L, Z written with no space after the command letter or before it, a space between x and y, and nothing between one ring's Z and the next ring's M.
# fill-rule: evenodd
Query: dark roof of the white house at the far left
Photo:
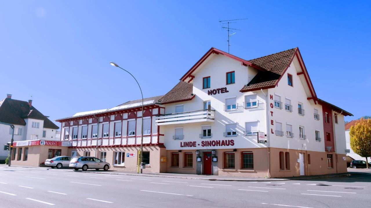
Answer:
M24 118L33 118L44 121L43 128L59 129L45 115L35 107L29 107L28 102L4 98L0 101L0 121L15 125L26 125Z

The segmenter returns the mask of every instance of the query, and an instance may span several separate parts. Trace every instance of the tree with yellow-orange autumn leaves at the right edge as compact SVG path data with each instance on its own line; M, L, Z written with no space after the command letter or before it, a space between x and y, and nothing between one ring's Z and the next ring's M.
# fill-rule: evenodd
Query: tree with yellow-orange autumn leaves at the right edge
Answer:
M363 119L357 121L349 131L350 147L352 150L366 158L366 165L368 168L367 157L371 157L371 119Z

